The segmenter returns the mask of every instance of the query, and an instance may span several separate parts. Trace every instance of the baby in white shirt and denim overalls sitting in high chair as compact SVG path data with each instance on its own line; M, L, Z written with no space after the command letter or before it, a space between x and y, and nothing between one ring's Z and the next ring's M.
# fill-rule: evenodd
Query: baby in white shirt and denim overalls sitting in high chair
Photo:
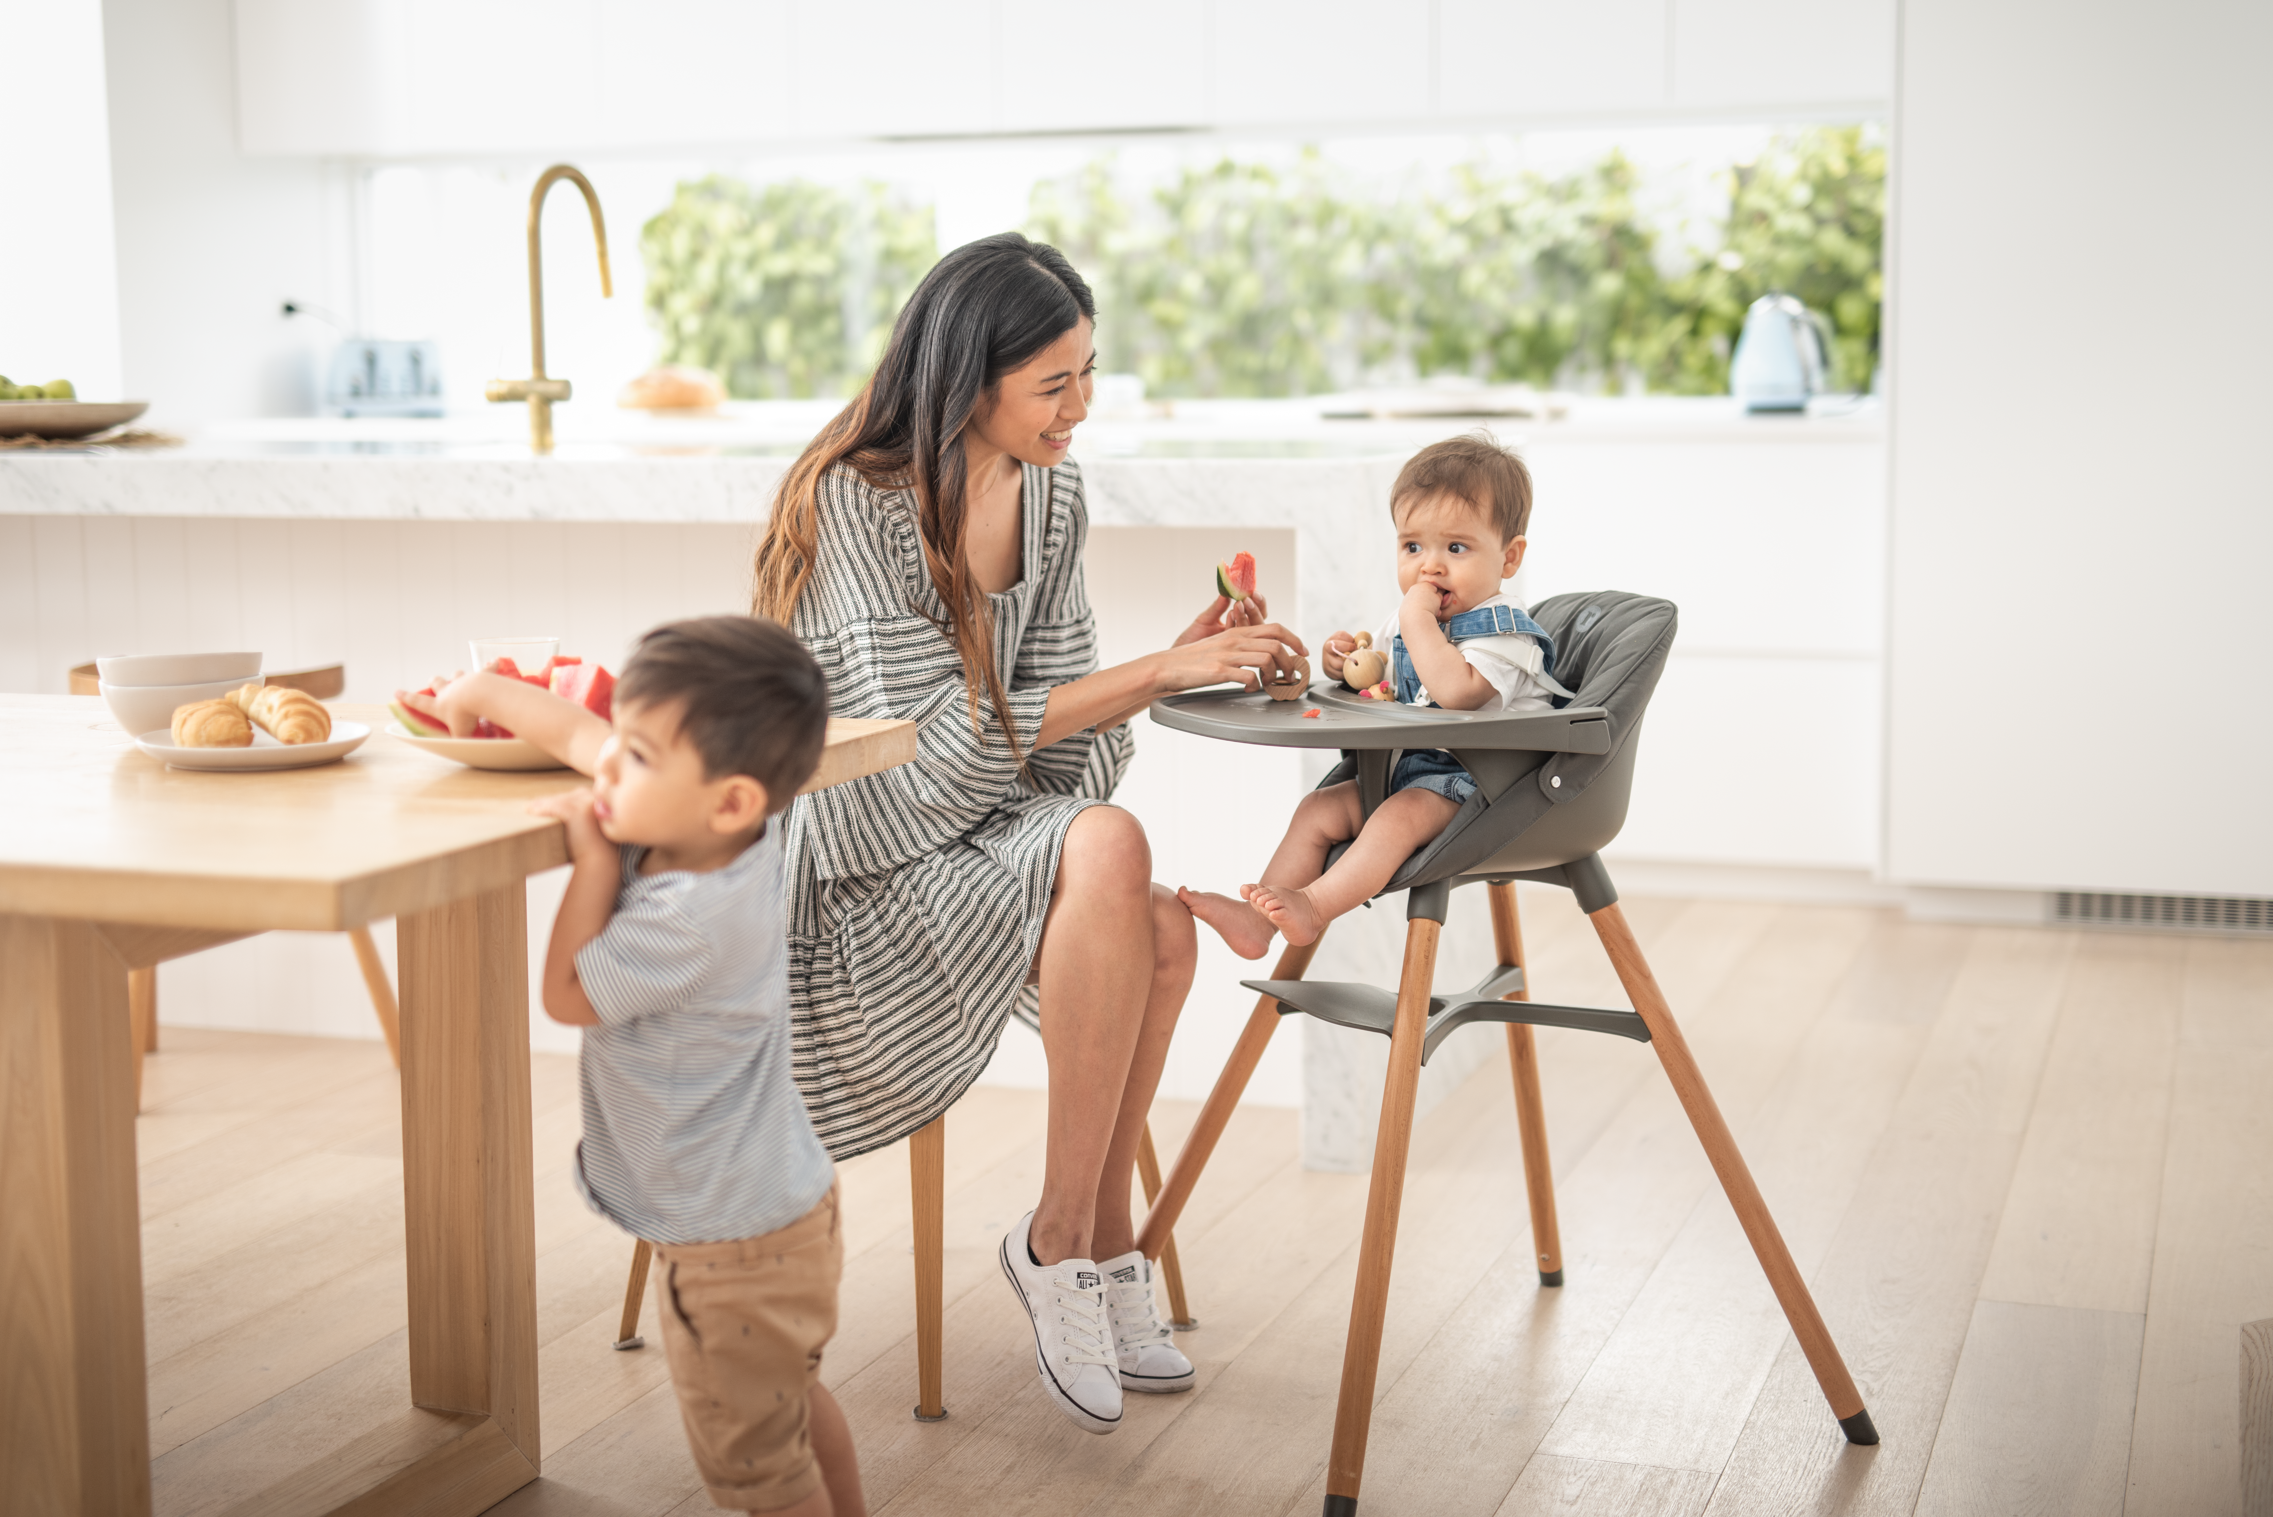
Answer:
M1405 598L1373 641L1391 655L1398 701L1455 712L1537 712L1571 694L1555 682L1555 641L1500 594L1500 582L1523 566L1523 530L1532 519L1532 475L1516 455L1491 437L1432 444L1398 473L1389 516L1398 523ZM1339 680L1355 650L1355 637L1334 632L1321 660L1327 678ZM1175 894L1239 958L1262 958L1273 935L1314 942L1325 923L1389 885L1473 794L1475 780L1450 753L1407 751L1373 816L1359 810L1355 780L1314 789L1296 807L1259 885L1241 885L1239 898ZM1325 855L1339 844L1350 848L1327 869Z

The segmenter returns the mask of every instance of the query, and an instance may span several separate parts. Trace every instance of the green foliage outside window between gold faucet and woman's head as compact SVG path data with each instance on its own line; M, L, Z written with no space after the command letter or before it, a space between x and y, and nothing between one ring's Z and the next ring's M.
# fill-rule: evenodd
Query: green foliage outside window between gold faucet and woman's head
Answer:
M661 362L698 364L743 400L848 393L939 259L932 209L855 191L711 175L641 227Z

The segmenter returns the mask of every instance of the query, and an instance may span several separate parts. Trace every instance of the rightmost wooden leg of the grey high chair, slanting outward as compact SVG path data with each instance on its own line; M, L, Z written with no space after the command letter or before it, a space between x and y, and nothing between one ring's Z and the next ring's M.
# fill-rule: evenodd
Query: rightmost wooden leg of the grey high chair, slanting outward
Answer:
M1673 1083L1673 1094L1680 1096L1682 1110L1689 1112L1689 1126L1696 1128L1698 1142L1705 1146L1705 1158L1712 1160L1714 1174L1721 1176L1727 1203L1737 1208L1737 1221L1743 1224L1743 1235L1752 1242L1752 1253L1759 1255L1768 1287L1784 1308L1784 1319L1791 1321L1793 1337L1800 1340L1807 1367L1816 1371L1816 1385L1823 1387L1823 1399L1830 1401L1832 1417L1839 1419L1839 1431L1848 1435L1850 1444L1875 1444L1877 1428L1871 1426L1871 1412L1862 1403L1862 1392L1855 1390L1855 1376L1848 1374L1846 1360L1839 1358L1839 1344L1832 1342L1832 1331L1823 1326L1823 1312L1816 1310L1816 1299L1807 1292L1800 1267L1791 1262L1791 1249L1784 1246L1784 1235L1777 1230L1775 1217L1768 1215L1768 1203L1762 1199L1759 1185L1752 1183L1752 1171L1743 1162L1743 1153L1737 1151L1737 1135L1727 1130L1721 1105L1712 1099L1712 1089L1705 1087L1705 1073L1698 1069L1696 1055L1689 1053L1689 1042L1673 1021L1673 1008L1666 1005L1666 994L1657 987L1657 976L1650 973L1648 960L1641 958L1641 944L1634 942L1634 930L1625 923L1625 912L1612 903L1593 912L1591 921L1602 939L1602 948L1609 953L1612 967L1618 971L1618 980L1625 985L1627 998L1650 1028L1650 1046L1657 1048L1657 1062L1664 1064L1666 1078Z

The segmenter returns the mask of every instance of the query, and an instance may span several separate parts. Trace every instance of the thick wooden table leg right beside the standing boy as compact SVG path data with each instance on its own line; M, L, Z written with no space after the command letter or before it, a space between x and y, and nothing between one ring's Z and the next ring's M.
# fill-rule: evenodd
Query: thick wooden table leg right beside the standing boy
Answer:
M411 1401L486 1419L455 1472L482 1510L539 1469L523 887L405 914L396 955Z

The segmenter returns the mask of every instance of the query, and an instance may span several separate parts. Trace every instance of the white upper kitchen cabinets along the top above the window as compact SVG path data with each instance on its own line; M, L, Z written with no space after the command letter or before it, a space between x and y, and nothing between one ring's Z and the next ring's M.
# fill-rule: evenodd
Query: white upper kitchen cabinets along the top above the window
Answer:
M264 155L1880 116L1893 0L236 0Z

